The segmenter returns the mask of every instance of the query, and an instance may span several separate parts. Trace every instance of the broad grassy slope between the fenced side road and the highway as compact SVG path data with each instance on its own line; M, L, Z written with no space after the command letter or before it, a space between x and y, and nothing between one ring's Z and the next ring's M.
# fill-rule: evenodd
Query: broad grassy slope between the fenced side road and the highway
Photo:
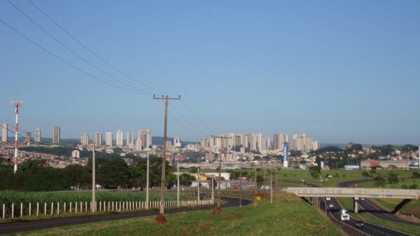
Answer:
M223 209L221 214L211 210L167 214L169 223L158 225L155 216L88 223L53 228L19 235L344 235L315 207L299 197L278 193L274 204L269 200L248 204L241 209Z

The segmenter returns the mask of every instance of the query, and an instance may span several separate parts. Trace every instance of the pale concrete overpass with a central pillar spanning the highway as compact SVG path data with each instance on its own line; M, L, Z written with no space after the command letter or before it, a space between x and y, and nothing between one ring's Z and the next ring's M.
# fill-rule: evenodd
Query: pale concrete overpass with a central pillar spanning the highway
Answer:
M420 199L420 190L392 188L287 188L287 193L299 197L353 197L354 212L358 212L359 198Z

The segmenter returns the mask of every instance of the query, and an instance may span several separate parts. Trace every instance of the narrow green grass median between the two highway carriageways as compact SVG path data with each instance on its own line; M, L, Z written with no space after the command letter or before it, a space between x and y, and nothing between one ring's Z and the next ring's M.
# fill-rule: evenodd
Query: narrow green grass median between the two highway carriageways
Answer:
M358 218L362 221L367 221L367 222L370 222L370 223L375 223L377 225L384 225L388 228L393 228L395 230L408 232L408 233L411 233L413 235L420 235L420 229L419 229L418 226L407 225L405 223L395 223L393 221L385 221L385 220L382 220L380 218L374 217L367 212L361 211L360 207L359 207L359 213L356 214L356 213L354 213L353 200L351 198L349 198L349 197L339 197L337 199L339 200L339 203L341 203L342 206L345 209L348 209L349 211L353 211L353 213L351 213L351 216L353 216L354 218ZM335 207L339 207L339 206L335 206Z

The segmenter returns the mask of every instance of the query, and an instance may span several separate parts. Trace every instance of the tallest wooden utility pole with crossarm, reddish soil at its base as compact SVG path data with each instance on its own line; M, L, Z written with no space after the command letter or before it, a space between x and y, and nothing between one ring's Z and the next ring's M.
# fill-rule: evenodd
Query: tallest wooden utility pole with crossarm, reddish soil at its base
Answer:
M160 181L160 209L159 215L156 216L155 220L158 223L167 223L167 219L165 218L165 165L166 165L166 150L167 150L167 121L168 121L168 104L169 100L181 100L181 96L179 97L168 97L168 95L162 97L155 97L153 95L153 99L155 100L165 100L165 121L164 121L164 129L163 129L163 156L162 156L162 177Z

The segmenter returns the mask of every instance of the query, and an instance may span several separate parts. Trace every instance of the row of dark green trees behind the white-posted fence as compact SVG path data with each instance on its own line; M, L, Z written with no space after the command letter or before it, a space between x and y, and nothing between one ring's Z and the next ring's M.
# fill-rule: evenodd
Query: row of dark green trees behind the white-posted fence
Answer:
M160 186L162 158L151 156L149 167L150 186ZM166 168L168 188L176 184L174 169ZM0 190L50 191L92 188L92 162L86 166L69 165L65 168L53 168L43 160L26 160L13 173L13 165L0 163ZM189 174L180 176L181 186L190 186L194 177ZM141 159L134 165L127 165L121 158L97 158L96 182L102 188L146 188L146 160Z

